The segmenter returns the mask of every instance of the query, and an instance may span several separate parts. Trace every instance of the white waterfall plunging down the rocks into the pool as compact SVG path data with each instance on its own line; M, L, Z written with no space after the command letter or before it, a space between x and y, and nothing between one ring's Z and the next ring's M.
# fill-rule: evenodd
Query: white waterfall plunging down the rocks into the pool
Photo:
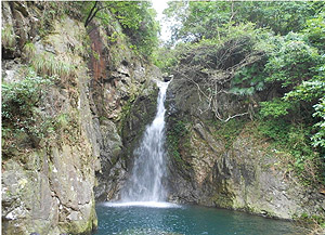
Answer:
M166 199L166 190L162 185L162 178L166 175L164 102L168 83L157 81L159 94L156 117L151 125L146 126L140 146L133 152L134 166L121 192L122 201L164 201Z

